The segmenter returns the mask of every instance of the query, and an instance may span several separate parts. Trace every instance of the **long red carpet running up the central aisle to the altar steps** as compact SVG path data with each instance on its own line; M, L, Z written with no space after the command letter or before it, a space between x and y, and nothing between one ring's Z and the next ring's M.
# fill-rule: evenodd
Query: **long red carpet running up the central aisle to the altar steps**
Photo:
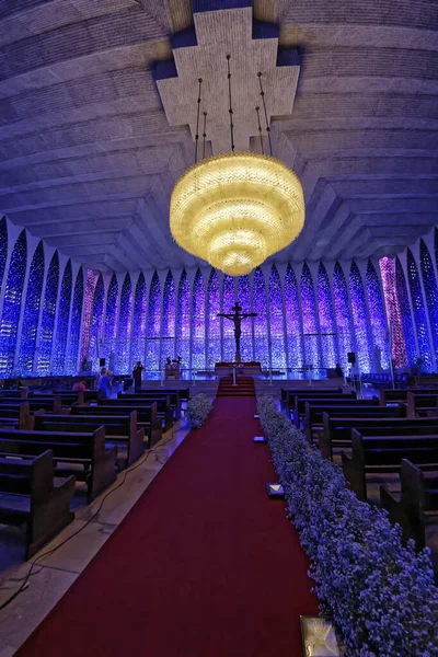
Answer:
M254 411L215 402L20 657L301 655L318 604Z

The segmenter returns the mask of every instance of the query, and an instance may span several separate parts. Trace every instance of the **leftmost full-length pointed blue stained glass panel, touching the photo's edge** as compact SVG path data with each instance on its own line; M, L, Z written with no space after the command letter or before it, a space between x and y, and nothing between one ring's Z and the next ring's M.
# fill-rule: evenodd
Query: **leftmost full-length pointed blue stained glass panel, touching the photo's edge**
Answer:
M26 274L27 241L22 230L12 251L3 298L0 324L0 374L12 376L18 338L18 328Z

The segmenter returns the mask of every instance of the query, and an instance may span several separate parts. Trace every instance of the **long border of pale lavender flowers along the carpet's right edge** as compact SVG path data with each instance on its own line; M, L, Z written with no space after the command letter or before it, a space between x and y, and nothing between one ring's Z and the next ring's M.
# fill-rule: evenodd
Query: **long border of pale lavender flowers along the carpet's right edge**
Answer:
M290 517L311 558L309 575L355 657L438 656L438 588L429 550L402 543L384 510L359 502L341 466L258 400L258 414Z

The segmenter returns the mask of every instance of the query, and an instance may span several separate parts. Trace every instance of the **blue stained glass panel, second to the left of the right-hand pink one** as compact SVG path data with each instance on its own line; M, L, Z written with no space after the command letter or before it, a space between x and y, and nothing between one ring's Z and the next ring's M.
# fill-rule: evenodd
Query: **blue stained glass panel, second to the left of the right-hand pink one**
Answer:
M349 292L351 295L353 322L356 334L359 370L360 372L370 372L372 364L371 332L368 323L362 278L355 261L353 261L349 270Z

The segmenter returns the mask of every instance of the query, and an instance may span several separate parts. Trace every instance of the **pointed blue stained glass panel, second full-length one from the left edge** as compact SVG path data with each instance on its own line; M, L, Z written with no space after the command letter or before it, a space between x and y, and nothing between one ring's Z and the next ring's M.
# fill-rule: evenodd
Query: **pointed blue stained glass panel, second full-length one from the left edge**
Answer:
M39 308L44 281L44 246L37 245L31 263L27 279L26 302L24 304L21 332L19 370L21 374L31 374L34 369L36 334L38 332Z

